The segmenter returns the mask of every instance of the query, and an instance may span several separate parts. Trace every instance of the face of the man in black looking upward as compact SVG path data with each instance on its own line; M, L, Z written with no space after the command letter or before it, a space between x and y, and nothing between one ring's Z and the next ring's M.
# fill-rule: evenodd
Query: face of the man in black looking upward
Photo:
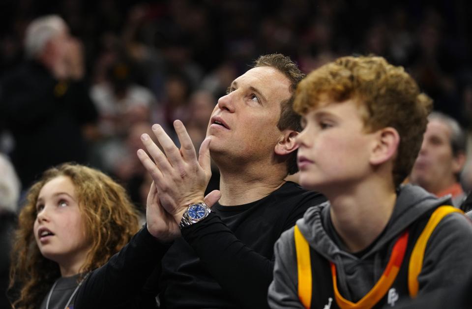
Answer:
M282 136L277 128L290 81L277 69L255 67L236 78L218 100L207 128L210 152L244 161L267 161Z

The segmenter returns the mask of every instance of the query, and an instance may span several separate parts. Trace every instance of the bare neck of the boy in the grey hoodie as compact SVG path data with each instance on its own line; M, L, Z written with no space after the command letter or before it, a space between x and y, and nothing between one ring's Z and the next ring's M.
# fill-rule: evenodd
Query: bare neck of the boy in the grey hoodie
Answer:
M328 196L334 229L350 252L365 249L382 233L396 197L394 186L379 179Z

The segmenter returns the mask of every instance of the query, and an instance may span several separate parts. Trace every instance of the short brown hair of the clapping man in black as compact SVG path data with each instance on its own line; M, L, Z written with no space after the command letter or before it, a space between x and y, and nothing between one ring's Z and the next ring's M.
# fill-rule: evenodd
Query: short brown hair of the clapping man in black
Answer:
M293 109L294 93L298 83L305 77L305 74L300 71L298 65L289 57L282 54L270 54L259 57L254 62L254 67L271 66L282 72L290 81L289 91L292 94L287 100L280 102L280 119L277 124L279 130L291 129L297 132L301 131L300 115L295 113ZM289 155L287 160L288 174L292 175L298 171L296 165L296 153L294 151Z

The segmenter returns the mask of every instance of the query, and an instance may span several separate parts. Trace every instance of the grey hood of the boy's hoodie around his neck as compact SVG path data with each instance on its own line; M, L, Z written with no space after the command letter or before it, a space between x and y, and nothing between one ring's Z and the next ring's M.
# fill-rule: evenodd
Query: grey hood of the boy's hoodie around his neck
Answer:
M452 205L450 196L437 198L419 186L402 186L398 191L392 216L383 231L382 237L377 240L375 246L366 252L362 258L366 258L378 251L386 243L398 236L400 232L405 230L418 217L440 205ZM326 233L326 222L330 220L329 207L328 201L308 209L303 218L296 222L300 232L311 247L326 259L336 262L336 264L341 262L339 259L342 260L343 257L356 259L354 255L341 250Z

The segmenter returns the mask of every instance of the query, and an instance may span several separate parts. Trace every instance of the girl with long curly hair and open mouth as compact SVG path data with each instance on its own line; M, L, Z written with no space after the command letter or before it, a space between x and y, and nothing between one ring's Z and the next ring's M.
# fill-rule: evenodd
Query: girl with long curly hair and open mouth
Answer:
M72 309L87 274L138 230L134 206L110 177L70 163L48 169L19 215L10 268L13 308Z

